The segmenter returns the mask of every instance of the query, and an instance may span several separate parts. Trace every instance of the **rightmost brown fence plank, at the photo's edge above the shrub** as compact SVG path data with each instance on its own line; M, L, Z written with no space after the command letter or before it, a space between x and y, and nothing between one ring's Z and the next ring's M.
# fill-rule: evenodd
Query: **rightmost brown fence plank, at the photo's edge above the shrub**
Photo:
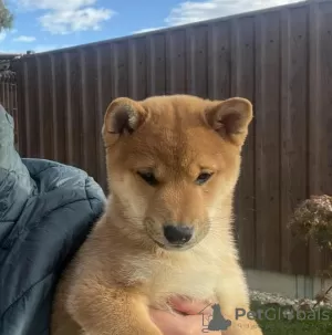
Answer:
M317 22L315 27L318 39L315 44L317 52L317 86L315 96L319 100L315 103L315 108L312 109L311 121L315 123L312 136L315 137L315 164L318 175L312 175L315 178L317 189L311 192L332 195L332 7L330 2L321 2L317 6ZM313 51L314 52L314 51ZM312 69L313 70L313 69ZM319 90L319 91L318 91ZM314 119L313 119L314 118ZM314 245L312 245L315 252ZM317 253L317 252L315 252ZM317 253L317 260L312 259L311 270L317 273L331 265L331 253Z

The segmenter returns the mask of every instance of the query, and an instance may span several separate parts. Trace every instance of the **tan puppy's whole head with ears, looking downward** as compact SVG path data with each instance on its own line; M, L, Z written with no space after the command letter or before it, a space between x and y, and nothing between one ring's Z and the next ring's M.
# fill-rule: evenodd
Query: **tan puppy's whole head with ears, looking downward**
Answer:
M113 208L126 222L122 229L172 250L204 239L228 211L251 118L250 102L239 97L113 101L103 138Z

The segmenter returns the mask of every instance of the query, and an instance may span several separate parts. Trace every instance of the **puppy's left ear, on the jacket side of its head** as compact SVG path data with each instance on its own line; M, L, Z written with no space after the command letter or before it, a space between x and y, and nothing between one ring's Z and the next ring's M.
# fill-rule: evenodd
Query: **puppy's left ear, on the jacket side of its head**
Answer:
M103 137L118 138L133 134L146 118L146 111L138 102L127 97L114 100L104 116Z

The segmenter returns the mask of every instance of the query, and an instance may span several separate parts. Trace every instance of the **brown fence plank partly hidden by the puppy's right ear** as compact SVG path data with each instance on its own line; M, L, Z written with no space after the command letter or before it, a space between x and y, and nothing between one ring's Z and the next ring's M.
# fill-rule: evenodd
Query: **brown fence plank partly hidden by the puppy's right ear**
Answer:
M236 50L237 69L231 95L248 98L253 104L253 122L250 125L246 144L242 148L241 174L236 190L236 222L238 244L242 263L253 269L256 263L256 222L255 222L255 20L243 18L238 22Z

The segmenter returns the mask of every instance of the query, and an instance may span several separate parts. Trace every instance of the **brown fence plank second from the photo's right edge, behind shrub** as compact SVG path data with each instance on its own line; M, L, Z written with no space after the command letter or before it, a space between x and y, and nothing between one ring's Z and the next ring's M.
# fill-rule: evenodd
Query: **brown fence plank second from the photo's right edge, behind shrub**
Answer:
M308 197L308 10L281 15L281 271L305 273L308 248L287 226Z

